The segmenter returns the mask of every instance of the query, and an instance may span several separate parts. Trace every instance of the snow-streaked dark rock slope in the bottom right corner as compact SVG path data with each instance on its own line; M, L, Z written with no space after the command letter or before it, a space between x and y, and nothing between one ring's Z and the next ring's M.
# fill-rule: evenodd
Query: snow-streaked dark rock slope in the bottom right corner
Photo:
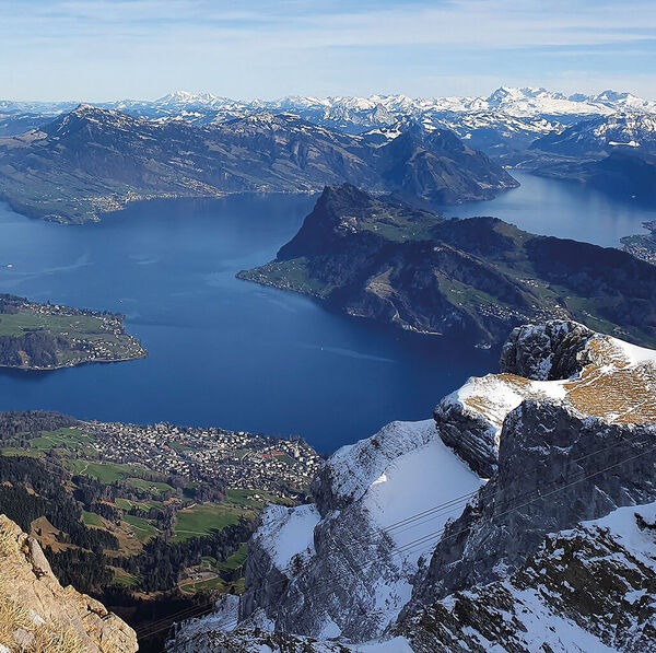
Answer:
M395 628L415 653L649 653L656 642L656 503L549 535L504 581L422 606Z

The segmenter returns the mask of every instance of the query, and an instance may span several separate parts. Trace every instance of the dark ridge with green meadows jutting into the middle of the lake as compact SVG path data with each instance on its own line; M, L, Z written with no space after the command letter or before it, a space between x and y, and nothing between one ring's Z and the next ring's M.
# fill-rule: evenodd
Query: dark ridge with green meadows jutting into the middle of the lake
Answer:
M552 317L656 341L656 271L643 261L494 218L443 220L348 185L326 188L276 260L238 277L484 346Z

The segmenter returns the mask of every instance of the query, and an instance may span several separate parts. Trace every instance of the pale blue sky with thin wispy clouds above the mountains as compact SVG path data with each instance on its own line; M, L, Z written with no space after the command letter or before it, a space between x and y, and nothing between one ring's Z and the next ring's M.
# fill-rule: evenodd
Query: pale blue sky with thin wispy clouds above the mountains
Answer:
M656 0L0 0L0 97L656 98Z

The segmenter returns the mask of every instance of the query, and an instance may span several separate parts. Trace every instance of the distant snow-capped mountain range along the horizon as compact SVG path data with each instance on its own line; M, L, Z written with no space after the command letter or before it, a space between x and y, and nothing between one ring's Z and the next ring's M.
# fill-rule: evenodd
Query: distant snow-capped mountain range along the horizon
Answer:
M77 102L37 103L0 101L0 131L10 132L20 116L39 117L71 110ZM489 96L412 98L407 95L290 96L281 100L239 101L212 95L176 91L159 100L122 100L94 103L152 120L186 120L208 125L270 112L292 113L305 120L361 133L372 128L394 125L400 117L411 116L424 124L452 128L460 137L476 130L505 130L507 136L536 136L559 131L583 117L623 113L656 113L656 101L631 93L605 91L597 95L564 95L544 89L502 86ZM23 119L19 127L27 124ZM38 125L35 125L38 126ZM11 131L16 133L15 129Z

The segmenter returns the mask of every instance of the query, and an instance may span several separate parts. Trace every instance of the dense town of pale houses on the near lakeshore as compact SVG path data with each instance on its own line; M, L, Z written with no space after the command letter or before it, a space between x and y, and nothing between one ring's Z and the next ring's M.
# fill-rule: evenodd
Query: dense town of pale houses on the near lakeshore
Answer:
M139 464L159 474L216 481L227 488L294 498L323 463L301 439L218 428L85 422L102 460Z

